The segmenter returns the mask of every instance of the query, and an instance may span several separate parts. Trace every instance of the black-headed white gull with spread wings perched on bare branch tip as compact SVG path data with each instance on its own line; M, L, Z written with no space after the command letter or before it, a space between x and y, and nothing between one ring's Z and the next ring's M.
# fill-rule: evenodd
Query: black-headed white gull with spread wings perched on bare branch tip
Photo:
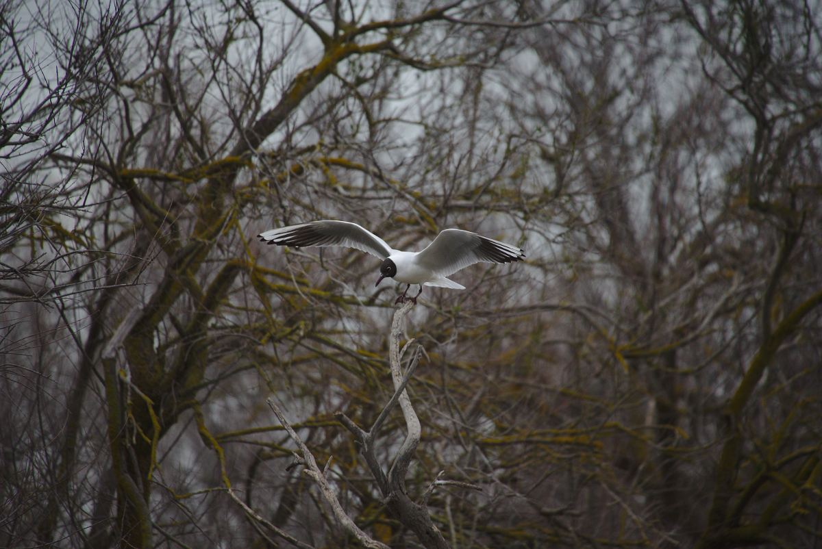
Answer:
M385 240L358 224L330 219L272 228L258 234L257 238L260 242L277 246L353 247L377 256L382 264L375 286L379 286L382 279L395 279L408 284L395 304L407 300L416 304L419 294L423 293L423 286L464 290L462 284L446 279L446 276L479 261L511 263L525 259L524 250L518 247L459 228L441 231L423 251L395 250ZM405 295L411 284L419 284L419 292L413 298Z

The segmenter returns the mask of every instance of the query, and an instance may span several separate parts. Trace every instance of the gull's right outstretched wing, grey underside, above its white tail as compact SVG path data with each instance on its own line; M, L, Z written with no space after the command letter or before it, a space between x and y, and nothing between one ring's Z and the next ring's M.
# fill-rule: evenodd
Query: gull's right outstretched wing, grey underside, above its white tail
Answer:
M416 261L434 271L438 276L448 276L469 265L485 261L487 263L510 263L525 259L525 251L486 238L477 233L446 228L419 252Z

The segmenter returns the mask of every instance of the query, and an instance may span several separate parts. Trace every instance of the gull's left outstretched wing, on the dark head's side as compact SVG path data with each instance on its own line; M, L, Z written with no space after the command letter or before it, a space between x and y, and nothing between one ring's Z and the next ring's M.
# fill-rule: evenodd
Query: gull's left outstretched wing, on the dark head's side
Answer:
M261 242L277 246L344 246L357 248L380 259L386 259L393 251L382 238L356 223L323 219L311 223L272 228L257 235Z

